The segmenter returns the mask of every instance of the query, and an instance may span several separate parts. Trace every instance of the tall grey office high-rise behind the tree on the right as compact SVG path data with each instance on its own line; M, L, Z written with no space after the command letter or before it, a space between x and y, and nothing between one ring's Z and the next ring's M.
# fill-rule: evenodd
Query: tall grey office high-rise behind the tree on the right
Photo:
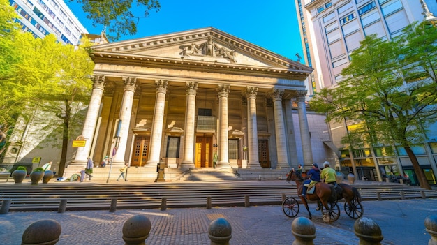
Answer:
M350 64L350 54L360 47L366 36L376 34L382 40L392 40L413 22L436 20L437 2L434 0L295 0L300 25L304 59L314 68L309 76L313 94L323 88L335 87L345 77L343 68ZM331 124L332 140L342 154L343 163L357 165L358 177L380 180L389 172L414 177L413 166L401 147L397 156L386 157L380 149L355 148L352 157L341 144L346 135L347 122ZM352 125L353 126L353 125ZM434 128L434 129L433 129ZM431 185L436 185L437 131L431 127L428 142L413 148L420 166ZM343 166L345 166L343 165ZM378 176L379 175L379 176ZM415 181L415 179L413 179Z

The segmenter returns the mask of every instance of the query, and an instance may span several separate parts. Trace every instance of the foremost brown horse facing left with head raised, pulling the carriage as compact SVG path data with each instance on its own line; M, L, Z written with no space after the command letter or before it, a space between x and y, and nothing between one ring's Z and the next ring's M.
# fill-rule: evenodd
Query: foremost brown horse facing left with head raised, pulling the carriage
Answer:
M302 197L302 187L304 186L302 184L302 182L305 179L302 178L302 175L300 174L300 172L296 172L294 169L292 169L290 172L288 172L287 175L287 181L295 181L296 182L296 186L297 186L297 194L299 195L300 199L302 200L302 203L304 203L305 207L306 207L306 211L308 211L309 214L309 218L313 218L311 215L311 211L309 211L309 207L308 207L308 202L306 200L306 198ZM306 193L306 197L308 198L308 200L310 201L320 201L321 205L323 207L325 207L325 210L329 211L329 216L332 216L331 212L332 212L332 204L336 202L336 192L334 190L334 187L332 187L329 184L326 183L322 183L319 182L316 184L316 186L314 186L314 193L313 194L309 194ZM337 206L338 207L338 206ZM323 208L321 208L322 210L322 214L323 214ZM339 214L337 217L335 218L339 218ZM335 221L335 220L333 220Z

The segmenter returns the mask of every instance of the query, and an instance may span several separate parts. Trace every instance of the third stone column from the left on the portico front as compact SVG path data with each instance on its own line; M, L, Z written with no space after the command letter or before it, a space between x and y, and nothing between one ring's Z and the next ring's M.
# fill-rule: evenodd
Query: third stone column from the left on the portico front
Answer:
M156 101L154 110L154 121L151 125L151 140L149 149L149 161L145 167L156 168L161 154L161 140L163 138L163 123L165 109L165 94L168 89L168 80L155 80Z

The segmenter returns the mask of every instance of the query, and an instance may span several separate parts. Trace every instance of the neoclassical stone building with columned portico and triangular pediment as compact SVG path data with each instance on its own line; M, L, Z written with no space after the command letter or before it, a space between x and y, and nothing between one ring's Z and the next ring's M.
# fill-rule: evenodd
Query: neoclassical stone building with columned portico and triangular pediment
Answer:
M214 28L96 45L91 58L86 144L69 167L114 148L114 165L155 173L212 168L214 154L222 169L289 169L297 149L313 163L303 64Z

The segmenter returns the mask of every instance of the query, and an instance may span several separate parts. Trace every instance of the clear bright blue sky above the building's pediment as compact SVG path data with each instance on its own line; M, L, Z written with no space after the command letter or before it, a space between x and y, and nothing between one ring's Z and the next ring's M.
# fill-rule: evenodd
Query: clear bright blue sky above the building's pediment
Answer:
M161 10L151 10L140 18L138 33L120 40L169 34L204 27L214 27L242 38L288 59L303 57L295 3L292 0L160 0ZM92 26L80 6L69 3L76 17L91 34L101 33L103 27Z

